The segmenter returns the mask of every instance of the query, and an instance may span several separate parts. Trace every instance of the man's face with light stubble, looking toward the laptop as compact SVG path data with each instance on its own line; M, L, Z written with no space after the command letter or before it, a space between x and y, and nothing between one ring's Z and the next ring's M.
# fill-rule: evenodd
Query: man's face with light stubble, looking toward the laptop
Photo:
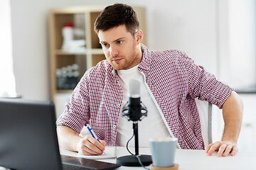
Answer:
M132 35L125 25L99 31L103 52L114 69L130 69L142 61L137 33Z

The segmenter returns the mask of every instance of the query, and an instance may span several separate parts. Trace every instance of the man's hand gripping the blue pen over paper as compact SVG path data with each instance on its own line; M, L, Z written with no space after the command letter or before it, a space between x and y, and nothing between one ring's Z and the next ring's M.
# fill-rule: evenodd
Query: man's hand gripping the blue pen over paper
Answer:
M91 135L87 135L78 142L78 152L84 155L102 154L105 150L105 140L97 141Z

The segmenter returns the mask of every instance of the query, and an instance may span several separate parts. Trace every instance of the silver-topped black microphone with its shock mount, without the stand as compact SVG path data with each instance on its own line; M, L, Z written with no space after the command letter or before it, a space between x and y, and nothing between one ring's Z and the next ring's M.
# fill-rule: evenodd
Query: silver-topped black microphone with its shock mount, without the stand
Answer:
M136 79L129 80L128 102L124 105L122 115L128 120L136 122L142 120L147 115L146 106L142 103L140 97L140 84Z

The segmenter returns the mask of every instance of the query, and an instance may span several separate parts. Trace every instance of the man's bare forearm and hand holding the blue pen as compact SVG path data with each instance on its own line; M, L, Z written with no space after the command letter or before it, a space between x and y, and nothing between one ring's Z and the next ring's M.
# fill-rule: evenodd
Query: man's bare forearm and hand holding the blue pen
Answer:
M90 135L82 137L66 126L57 126L57 134L60 147L80 154L102 154L105 149L106 142L104 140L98 142Z

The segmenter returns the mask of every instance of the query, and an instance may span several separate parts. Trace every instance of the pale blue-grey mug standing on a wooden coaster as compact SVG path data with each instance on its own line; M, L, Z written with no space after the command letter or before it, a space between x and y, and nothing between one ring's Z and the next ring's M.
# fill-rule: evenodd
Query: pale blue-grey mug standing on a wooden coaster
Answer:
M174 166L176 137L156 137L149 139L152 162L155 167Z

